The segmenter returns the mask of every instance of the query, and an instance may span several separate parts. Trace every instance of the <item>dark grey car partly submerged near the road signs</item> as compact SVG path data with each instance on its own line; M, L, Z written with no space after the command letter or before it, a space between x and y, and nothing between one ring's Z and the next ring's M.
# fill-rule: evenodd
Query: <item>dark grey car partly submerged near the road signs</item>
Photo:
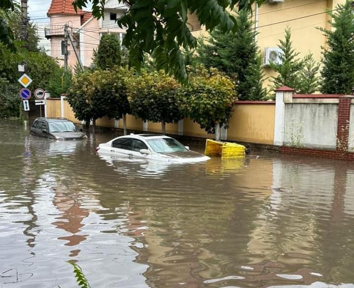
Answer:
M31 126L31 133L56 140L87 138L74 123L66 118L37 118Z

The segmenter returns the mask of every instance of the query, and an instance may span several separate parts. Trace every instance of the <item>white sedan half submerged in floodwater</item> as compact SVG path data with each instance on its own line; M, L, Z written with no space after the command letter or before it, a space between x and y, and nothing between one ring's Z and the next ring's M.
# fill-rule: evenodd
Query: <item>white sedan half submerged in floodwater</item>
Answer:
M156 134L130 134L99 144L96 152L112 157L132 157L172 163L202 162L210 159L190 151L176 139Z

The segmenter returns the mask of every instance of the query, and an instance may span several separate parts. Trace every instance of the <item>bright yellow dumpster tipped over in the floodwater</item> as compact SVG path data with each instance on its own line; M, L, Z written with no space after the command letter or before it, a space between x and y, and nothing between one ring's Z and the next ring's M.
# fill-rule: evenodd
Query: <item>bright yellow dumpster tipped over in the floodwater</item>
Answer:
M204 154L206 156L219 156L222 158L244 157L246 155L246 147L237 143L207 139Z

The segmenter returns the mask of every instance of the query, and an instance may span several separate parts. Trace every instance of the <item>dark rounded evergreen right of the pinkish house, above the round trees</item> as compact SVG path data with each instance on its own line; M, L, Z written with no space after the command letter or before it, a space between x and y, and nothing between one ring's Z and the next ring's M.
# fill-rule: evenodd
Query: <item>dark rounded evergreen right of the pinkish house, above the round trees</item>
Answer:
M100 69L112 69L121 63L121 48L115 34L102 35L94 63Z

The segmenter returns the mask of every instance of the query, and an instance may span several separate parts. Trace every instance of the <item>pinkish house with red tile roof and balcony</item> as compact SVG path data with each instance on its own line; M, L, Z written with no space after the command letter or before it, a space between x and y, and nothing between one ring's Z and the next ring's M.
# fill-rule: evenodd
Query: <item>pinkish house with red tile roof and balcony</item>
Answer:
M92 13L77 9L75 11L72 0L52 0L47 12L50 25L45 27L45 36L50 39L52 56L64 63L64 26L68 25L69 33L74 43L68 44L68 65L75 67L77 58L74 47L84 66L92 63L92 54L97 49L99 40L103 34L115 33L120 41L125 35L125 28L120 28L116 20L123 16L128 6L118 0L106 0L105 17L99 20L92 17ZM74 46L74 47L73 47Z

